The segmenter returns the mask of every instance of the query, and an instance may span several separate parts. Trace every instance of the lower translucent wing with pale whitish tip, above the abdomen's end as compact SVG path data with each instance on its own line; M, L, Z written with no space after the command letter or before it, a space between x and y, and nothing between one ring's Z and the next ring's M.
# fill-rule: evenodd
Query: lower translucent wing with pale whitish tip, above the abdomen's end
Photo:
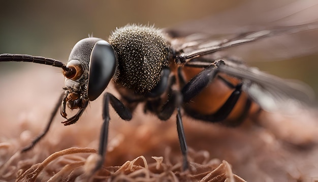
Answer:
M314 100L312 89L296 80L282 79L260 71L255 67L226 62L219 70L242 79L242 90L263 109L289 110L290 105L311 105Z

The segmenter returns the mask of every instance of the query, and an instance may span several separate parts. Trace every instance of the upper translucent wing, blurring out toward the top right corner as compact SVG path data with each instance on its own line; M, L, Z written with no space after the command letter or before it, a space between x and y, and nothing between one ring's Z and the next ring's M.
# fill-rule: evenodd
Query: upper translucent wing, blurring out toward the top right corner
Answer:
M313 39L318 37L317 11L315 0L247 1L228 12L165 31L176 38L172 47L184 52L185 59L216 51L247 62L289 58L318 51L318 41ZM257 40L261 41L252 43ZM256 54L258 59L251 58Z

